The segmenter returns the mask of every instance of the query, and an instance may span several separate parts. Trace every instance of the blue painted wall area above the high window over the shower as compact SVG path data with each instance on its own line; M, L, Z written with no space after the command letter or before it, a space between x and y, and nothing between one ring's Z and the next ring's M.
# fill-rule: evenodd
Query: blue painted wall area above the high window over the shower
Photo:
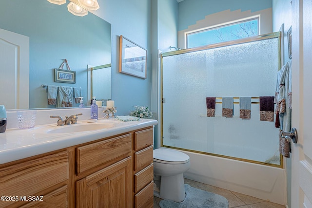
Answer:
M183 0L179 3L178 31L216 12L228 9L254 12L271 7L272 0Z

